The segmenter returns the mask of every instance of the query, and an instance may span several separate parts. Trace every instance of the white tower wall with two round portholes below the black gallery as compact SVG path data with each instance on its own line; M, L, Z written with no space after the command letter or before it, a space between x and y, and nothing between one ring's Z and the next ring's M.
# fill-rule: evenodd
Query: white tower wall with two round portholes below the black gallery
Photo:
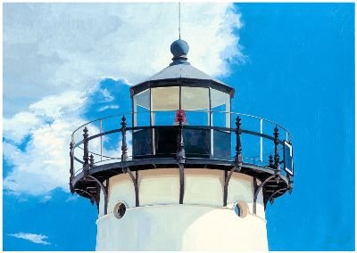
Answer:
M260 182L258 182L260 184ZM97 250L268 250L262 193L253 215L253 177L234 173L223 204L224 171L185 168L184 203L179 204L179 169L138 172L140 207L128 174L109 180L108 214L101 194ZM234 206L240 203L242 216ZM120 219L118 202L127 205Z

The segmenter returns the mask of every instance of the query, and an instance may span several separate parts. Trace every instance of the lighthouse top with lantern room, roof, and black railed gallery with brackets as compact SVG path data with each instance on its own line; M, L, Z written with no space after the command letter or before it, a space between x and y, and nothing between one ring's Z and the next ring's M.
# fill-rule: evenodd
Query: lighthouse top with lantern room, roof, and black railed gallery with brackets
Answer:
M195 169L203 169L199 172L202 178L208 175L216 178L216 193L222 195L215 197L215 204L221 202L225 208L233 203L228 196L230 178L248 176L251 183L246 189L253 190L249 201L254 215L257 203L265 208L269 201L292 192L293 146L286 128L265 118L232 112L234 89L195 69L187 61L185 41L173 42L170 51L173 58L167 68L130 87L132 110L129 113L97 118L73 132L71 192L96 202L98 210L107 215L108 205L112 203L108 195L111 188L107 185L113 183L112 177L129 174L135 207L141 207L140 198L144 198L144 206L148 205L146 197L140 197L146 191L140 190L145 189L145 184L139 183L142 176L153 172L153 178L164 178L166 169L178 168L175 184L179 184L179 192L173 195L179 204L190 201L189 187L194 185L185 187L185 169L188 178L189 171ZM150 172L156 168L163 170ZM209 169L205 171L205 168ZM205 183L197 185L211 187ZM202 187L195 189L201 192ZM114 192L121 191L118 189ZM260 194L262 199L258 198ZM210 199L211 195L206 197ZM104 200L103 208L99 207L99 200ZM202 204L202 200L199 198L195 203Z

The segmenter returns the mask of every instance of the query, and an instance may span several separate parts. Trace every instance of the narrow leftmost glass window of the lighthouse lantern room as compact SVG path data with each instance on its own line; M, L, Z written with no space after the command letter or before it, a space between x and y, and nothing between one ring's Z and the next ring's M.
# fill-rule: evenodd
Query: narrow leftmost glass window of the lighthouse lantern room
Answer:
M134 95L134 126L150 126L150 90Z

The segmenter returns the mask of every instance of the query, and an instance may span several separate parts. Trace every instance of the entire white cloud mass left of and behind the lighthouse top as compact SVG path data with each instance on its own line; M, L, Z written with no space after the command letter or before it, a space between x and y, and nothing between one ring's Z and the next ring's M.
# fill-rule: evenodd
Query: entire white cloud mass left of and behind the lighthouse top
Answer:
M243 57L233 33L239 14L231 4L181 6L189 61L227 74L226 61ZM4 158L12 164L5 190L69 191L71 132L87 121L87 94L102 78L135 84L168 66L177 11L177 4L4 4ZM105 153L120 157L119 146Z

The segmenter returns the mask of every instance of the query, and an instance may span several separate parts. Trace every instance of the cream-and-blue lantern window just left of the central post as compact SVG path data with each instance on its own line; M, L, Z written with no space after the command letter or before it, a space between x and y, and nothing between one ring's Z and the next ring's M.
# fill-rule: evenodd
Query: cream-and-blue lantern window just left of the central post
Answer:
M153 126L171 126L179 110L179 87L156 87L151 89Z

